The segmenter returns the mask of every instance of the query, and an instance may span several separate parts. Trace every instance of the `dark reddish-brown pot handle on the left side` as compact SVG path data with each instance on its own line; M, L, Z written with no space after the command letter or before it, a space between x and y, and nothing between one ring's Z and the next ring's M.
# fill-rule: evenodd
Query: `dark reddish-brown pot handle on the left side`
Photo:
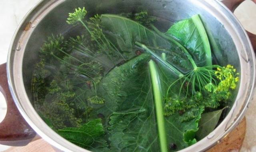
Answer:
M0 123L0 144L8 146L25 146L36 133L18 111L8 87L6 63L0 65L0 92L7 103L7 113ZM0 101L4 102L4 101Z

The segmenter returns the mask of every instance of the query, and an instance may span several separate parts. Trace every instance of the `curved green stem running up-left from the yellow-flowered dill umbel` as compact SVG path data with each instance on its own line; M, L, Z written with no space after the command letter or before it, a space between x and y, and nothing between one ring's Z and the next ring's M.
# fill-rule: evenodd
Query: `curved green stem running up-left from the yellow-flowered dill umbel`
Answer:
M184 51L186 57L188 58L188 60L190 61L190 63L192 64L193 68L196 69L197 65L194 61L194 59L192 58L192 56L190 55L190 53L188 52L188 50L182 45L180 44L176 39L174 39L173 37L169 37L167 35L165 35L164 33L162 33L161 31L159 31L154 25L151 25L152 29L154 29L154 31L156 31L156 33L158 35L160 35L161 37L163 37L164 39L167 39L169 41L171 41L172 43L178 45L178 47L180 47L182 49L182 51Z

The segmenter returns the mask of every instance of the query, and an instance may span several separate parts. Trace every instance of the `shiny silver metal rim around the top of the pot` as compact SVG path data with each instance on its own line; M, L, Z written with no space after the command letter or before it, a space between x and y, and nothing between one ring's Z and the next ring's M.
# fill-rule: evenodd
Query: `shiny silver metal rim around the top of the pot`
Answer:
M39 117L39 115L36 113L34 108L32 107L27 95L26 95L26 90L24 88L23 78L22 78L22 64L17 65L17 62L19 61L22 63L22 58L23 58L23 53L24 52L24 47L22 47L22 42L23 44L26 44L27 38L30 36L29 34L32 33L32 31L23 31L22 27L28 23L28 21L32 21L32 24L38 21L38 18L42 17L43 13L41 12L47 12L56 6L58 4L61 4L65 0L40 0L27 14L26 16L22 19L20 22L18 28L15 31L15 34L12 38L12 41L10 43L9 47L9 52L8 52L8 58L7 58L7 77L8 77L8 84L10 88L10 92L12 94L12 97L14 99L14 102L24 117L24 119L28 122L28 124L38 133L44 140L55 146L56 148L63 150L65 152L89 152L88 150L85 150L83 148L80 148L79 146L76 146L75 144L72 144L71 142L68 142L64 138L62 138L60 135L55 133L50 127L44 123L44 121ZM205 5L202 5L204 2ZM256 60L255 60L255 55L254 51L252 49L252 45L250 44L249 37L246 33L246 31L243 29L242 25L240 22L234 17L232 12L224 6L220 1L218 0L202 0L202 2L195 1L198 5L202 5L206 10L208 11L217 11L215 14L220 15L220 18L222 21L224 21L227 25L228 31L230 32L230 35L232 36L235 44L236 42L240 42L239 44L236 44L236 48L238 51L239 59L240 59L240 64L241 64L241 73L244 73L243 75L241 74L241 81L240 84L247 84L247 87L240 85L238 95L236 97L236 101L234 102L234 105L232 106L232 109L226 116L226 118L222 121L222 123L214 129L212 133L208 135L207 137L203 138L202 140L198 141L196 144L189 146L183 150L180 150L180 152L190 152L190 151L204 151L218 142L222 138L224 138L230 131L232 131L236 125L242 120L242 118L245 115L245 111L248 108L249 102L253 98L254 94L254 88L255 88L255 76L256 76ZM214 8L215 10L211 10ZM41 12L37 12L37 11ZM35 17L36 16L36 17ZM40 20L40 19L39 19ZM22 47L20 51L17 51L17 47ZM244 52L242 52L244 51ZM246 54L243 54L246 53ZM14 58L17 58L17 56L22 57L18 61L14 60ZM244 59L244 60L243 60ZM16 63L15 63L16 62ZM242 68L243 66L248 66L245 67L244 69ZM249 68L249 69L247 69ZM247 71L249 70L249 71ZM242 78L247 78L244 76L247 73L249 74L249 79L250 80L243 80ZM16 77L14 77L14 75ZM244 77L242 77L244 76ZM244 83L242 83L244 82ZM18 87L17 87L18 86ZM22 90L22 91L20 91ZM247 92L246 97L244 96L244 90L249 90ZM23 101L23 102L22 102ZM240 102L242 103L240 103ZM24 102L27 104L24 106ZM240 109L237 109L236 107L240 106ZM31 117L28 115L28 112L33 114L34 116ZM234 115L237 114L237 115ZM35 121L38 121L37 124ZM38 125L40 124L40 125ZM42 127L43 126L43 127ZM221 133L218 133L221 132ZM53 138L54 137L54 138ZM198 148L199 147L199 148Z

